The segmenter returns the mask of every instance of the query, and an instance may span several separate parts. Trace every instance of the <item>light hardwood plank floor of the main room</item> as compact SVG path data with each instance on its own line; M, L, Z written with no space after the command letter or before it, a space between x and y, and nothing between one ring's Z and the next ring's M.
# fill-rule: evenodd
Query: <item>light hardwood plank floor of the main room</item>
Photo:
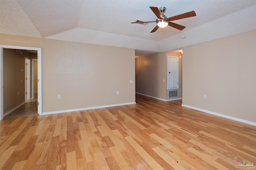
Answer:
M227 170L256 127L136 95L134 105L0 121L2 170ZM234 159L236 158L236 162Z

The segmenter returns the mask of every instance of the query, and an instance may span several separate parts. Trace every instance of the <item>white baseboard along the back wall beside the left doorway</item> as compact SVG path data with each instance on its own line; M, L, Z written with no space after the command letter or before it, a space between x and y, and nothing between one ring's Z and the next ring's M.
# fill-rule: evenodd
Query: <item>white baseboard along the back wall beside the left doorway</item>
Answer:
M42 115L50 115L50 114L56 114L56 113L66 113L66 112L81 111L81 110L100 109L100 108L104 108L104 107L124 106L124 105L129 105L129 104L136 104L136 102L121 103L121 104L111 104L111 105L105 105L105 106L84 107L84 108L80 108L80 109L48 111L48 112L43 112Z

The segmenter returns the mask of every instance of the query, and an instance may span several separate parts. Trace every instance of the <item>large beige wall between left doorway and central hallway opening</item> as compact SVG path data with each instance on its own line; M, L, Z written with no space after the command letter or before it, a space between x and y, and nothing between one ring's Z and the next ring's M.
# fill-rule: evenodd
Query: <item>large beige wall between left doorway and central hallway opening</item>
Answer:
M42 112L135 102L134 49L6 34L0 44L42 48Z

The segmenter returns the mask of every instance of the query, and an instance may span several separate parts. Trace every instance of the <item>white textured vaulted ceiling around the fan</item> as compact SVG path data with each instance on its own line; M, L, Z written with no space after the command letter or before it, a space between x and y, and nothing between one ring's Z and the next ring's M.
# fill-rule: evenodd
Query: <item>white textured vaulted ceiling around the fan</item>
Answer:
M149 6L196 16L173 21L182 31L150 33L156 23L130 23L155 21ZM0 33L133 48L137 56L250 31L255 18L256 0L0 0Z

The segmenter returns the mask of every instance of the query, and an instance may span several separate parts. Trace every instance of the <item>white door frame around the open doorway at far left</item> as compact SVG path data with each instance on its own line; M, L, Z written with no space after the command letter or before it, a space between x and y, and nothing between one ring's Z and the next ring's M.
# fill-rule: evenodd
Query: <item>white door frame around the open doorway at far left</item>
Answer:
M37 51L38 56L38 114L42 115L42 49L37 47L22 47L22 46L13 46L13 45L0 45L0 120L4 118L4 95L3 95L3 49L21 49L21 50L35 50Z

